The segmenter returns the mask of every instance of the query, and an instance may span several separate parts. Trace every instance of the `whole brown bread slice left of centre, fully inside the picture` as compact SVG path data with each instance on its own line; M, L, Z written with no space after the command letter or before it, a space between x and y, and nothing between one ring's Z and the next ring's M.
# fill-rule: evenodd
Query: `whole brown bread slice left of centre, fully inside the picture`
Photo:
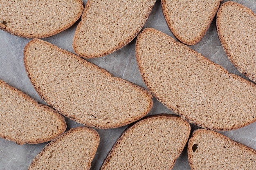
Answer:
M152 108L146 89L43 40L24 50L36 91L61 114L86 126L115 128L144 117Z

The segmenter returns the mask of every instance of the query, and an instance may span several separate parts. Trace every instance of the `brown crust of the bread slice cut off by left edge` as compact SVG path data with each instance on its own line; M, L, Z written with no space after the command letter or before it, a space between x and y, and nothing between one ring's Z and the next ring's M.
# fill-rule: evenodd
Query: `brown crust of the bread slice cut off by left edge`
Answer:
M13 138L7 137L4 134L0 134L0 137L2 137L4 139L7 139L9 141L14 141L14 142L16 142L19 145L26 144L26 143L28 143L28 144L40 144L40 143L44 143L44 142L47 142L47 141L51 141L52 139L55 139L59 135L63 134L63 132L65 132L65 130L67 128L65 119L56 110L54 110L53 108L50 108L49 106L46 106L46 105L43 105L43 104L39 104L34 99L32 99L29 95L23 93L22 91L19 91L17 88L9 86L6 82L2 81L1 79L0 79L0 85L1 86L5 86L6 88L10 89L11 91L16 93L17 95L19 95L22 98L26 99L27 101L29 101L31 103L31 105L37 106L39 109L42 108L42 110L43 109L47 110L54 117L57 117L57 119L59 119L59 121L61 122L61 125L62 125L61 127L59 127L58 133L56 135L49 136L48 138L45 138L45 139L35 139L35 140L34 139L27 139L27 140L24 141L24 140L18 139L18 137L17 137L17 139L13 139ZM2 104L2 106L4 106L4 104ZM47 121L47 120L45 120L45 121ZM32 129L32 130L34 130L34 129Z

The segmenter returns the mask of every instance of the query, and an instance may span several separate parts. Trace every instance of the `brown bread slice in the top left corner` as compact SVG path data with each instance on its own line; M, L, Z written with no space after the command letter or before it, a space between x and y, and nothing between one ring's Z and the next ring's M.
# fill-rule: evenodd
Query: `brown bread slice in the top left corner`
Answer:
M72 26L82 0L1 0L0 29L24 38L45 38Z

